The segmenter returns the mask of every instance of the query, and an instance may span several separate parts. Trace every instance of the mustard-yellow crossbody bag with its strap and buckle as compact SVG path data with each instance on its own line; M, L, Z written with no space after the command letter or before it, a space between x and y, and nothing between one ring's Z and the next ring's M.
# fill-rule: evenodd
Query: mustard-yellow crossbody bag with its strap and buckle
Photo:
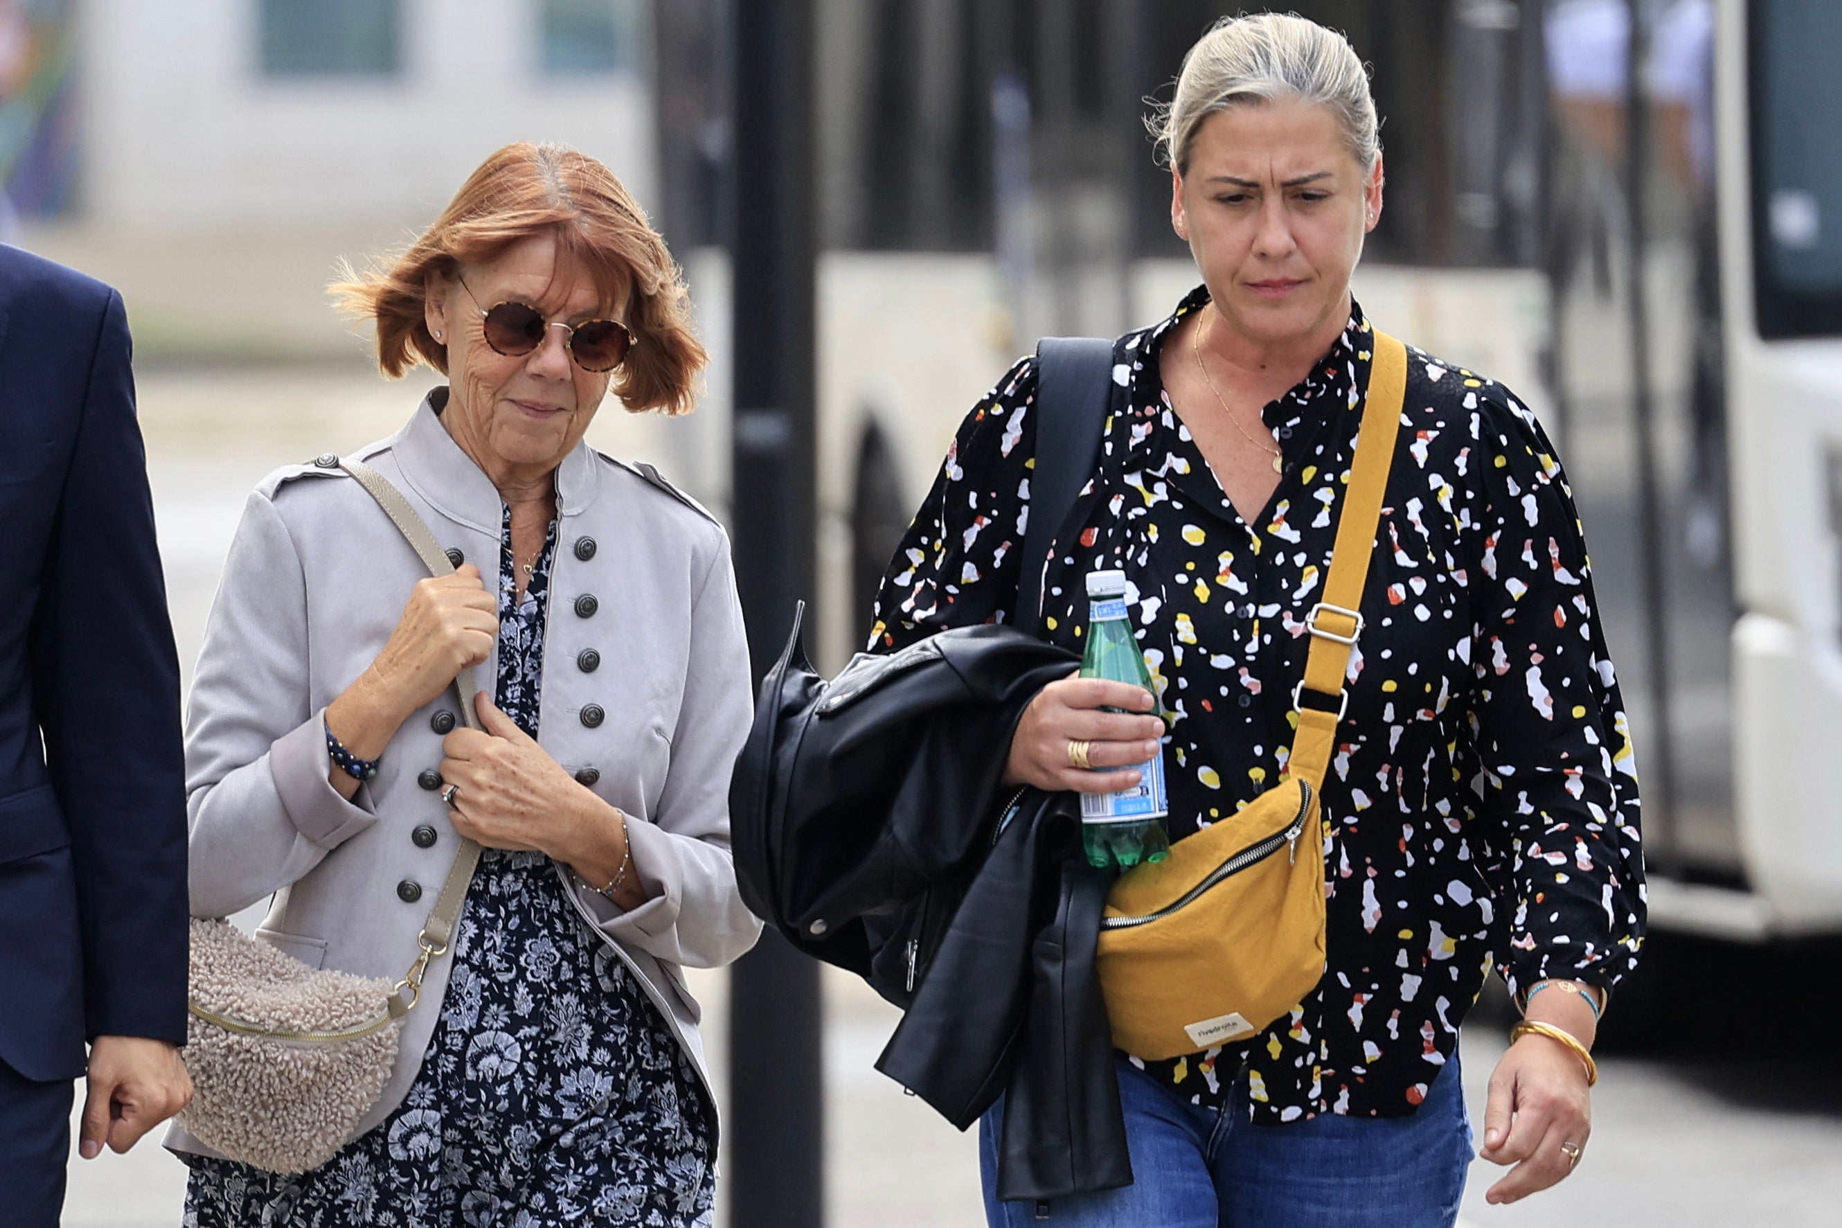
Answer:
M1118 878L1100 922L1100 985L1113 1044L1168 1059L1265 1031L1324 976L1324 830L1319 788L1348 705L1343 690L1394 458L1407 350L1374 335L1374 366L1324 597L1293 690L1299 720L1278 784ZM1304 707L1310 690L1335 711Z

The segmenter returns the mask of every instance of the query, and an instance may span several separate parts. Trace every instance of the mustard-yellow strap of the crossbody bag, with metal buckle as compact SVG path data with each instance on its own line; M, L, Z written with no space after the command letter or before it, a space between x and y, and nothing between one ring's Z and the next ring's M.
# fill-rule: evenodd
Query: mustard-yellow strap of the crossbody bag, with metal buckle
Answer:
M1407 398L1407 346L1378 331L1372 352L1369 396L1363 400L1363 423L1356 436L1356 458L1350 462L1350 486L1343 492L1337 541L1330 550L1330 574L1324 578L1323 600L1304 619L1312 630L1312 648L1304 657L1304 681L1291 692L1299 733L1291 740L1286 775L1308 781L1313 790L1324 784L1337 744L1337 722L1350 703L1343 678L1350 648L1363 633L1363 585L1369 580L1376 525L1382 521L1389 466L1394 462L1400 411ZM1300 700L1306 690L1335 701L1337 711L1304 707Z

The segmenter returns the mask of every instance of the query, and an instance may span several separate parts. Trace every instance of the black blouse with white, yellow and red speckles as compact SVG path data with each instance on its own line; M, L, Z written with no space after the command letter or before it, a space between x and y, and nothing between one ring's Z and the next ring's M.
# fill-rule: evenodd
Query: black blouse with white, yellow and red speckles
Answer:
M1046 574L1046 635L1079 650L1083 576L1120 567L1164 707L1172 838L1271 788L1289 753L1363 392L1369 322L1265 407L1286 471L1254 523L1172 407L1159 348L1183 300L1114 350L1083 530ZM1013 609L1035 464L1035 359L965 418L877 600L873 652ZM1188 407L1184 407L1188 409ZM1492 963L1610 987L1643 930L1638 777L1555 449L1501 385L1409 350L1407 401L1324 781L1328 972L1251 1042L1153 1062L1251 1114L1409 1114Z

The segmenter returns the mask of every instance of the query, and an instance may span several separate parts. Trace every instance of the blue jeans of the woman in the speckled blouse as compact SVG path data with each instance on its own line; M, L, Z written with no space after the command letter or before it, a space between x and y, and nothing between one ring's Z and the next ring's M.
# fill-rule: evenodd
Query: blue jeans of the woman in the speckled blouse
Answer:
M1120 1059L1133 1184L1055 1202L998 1202L1004 1099L978 1123L991 1228L1450 1228L1459 1217L1472 1129L1451 1055L1411 1118L1319 1114L1247 1121L1247 1084L1230 1108L1199 1108Z

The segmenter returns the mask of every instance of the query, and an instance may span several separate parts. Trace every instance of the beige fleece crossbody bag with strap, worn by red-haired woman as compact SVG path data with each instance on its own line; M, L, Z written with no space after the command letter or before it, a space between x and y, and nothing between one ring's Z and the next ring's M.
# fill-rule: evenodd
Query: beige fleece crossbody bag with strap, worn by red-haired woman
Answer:
M422 517L383 475L341 462L372 493L433 574L453 571ZM473 712L473 676L455 679ZM206 1147L271 1173L306 1173L333 1158L378 1103L396 1068L403 1016L422 996L473 882L479 845L462 840L442 893L394 985L313 968L223 919L192 921L186 1073L193 1097L179 1121Z

